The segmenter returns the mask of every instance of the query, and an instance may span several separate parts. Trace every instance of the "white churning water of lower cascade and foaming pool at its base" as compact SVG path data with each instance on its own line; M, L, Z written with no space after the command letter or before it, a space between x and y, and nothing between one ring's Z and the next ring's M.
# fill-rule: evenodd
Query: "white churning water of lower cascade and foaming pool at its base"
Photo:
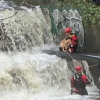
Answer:
M87 63L85 63L87 65ZM0 100L94 100L94 85L88 96L70 95L71 71L65 59L38 51L0 53Z

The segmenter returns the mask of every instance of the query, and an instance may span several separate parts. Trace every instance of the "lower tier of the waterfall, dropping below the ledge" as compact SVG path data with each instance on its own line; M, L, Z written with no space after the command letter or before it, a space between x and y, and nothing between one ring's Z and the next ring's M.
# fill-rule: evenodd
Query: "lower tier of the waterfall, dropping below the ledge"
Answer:
M5 64L4 64L5 63ZM53 87L70 89L66 60L47 54L5 56L1 60L0 90L38 89Z

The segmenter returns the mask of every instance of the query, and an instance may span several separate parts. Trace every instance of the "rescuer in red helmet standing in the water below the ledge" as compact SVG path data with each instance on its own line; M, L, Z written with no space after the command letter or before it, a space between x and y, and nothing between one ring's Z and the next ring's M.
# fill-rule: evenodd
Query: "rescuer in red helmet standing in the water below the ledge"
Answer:
M86 84L90 84L91 81L82 73L81 66L76 66L75 70L76 73L71 79L71 94L88 95Z

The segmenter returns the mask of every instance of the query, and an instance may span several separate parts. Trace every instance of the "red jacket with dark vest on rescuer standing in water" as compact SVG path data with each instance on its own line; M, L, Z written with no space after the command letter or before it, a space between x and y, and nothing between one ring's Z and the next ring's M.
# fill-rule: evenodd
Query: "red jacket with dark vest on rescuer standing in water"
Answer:
M71 88L73 88L73 87L84 88L84 87L86 87L86 84L90 84L90 83L91 82L88 80L88 78L84 74L80 74L80 75L75 74L71 79Z

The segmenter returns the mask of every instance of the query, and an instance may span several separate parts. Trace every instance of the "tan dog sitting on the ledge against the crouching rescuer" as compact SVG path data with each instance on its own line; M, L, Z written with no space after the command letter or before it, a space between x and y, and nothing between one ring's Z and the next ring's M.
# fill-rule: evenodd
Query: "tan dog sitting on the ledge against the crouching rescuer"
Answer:
M72 41L70 39L70 37L67 37L66 39L63 39L61 42L60 42L60 51L63 51L63 52L71 52L71 49L70 49L70 46L72 45Z

